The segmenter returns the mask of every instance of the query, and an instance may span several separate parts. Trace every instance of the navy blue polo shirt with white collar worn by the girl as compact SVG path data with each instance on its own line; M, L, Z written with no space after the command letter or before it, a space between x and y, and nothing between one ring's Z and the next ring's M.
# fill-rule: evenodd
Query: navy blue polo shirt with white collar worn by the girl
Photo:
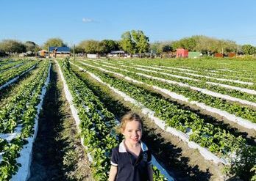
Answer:
M116 181L147 181L149 180L148 166L152 163L152 155L146 144L141 141L141 152L135 158L127 152L124 141L112 149L111 165L118 167Z

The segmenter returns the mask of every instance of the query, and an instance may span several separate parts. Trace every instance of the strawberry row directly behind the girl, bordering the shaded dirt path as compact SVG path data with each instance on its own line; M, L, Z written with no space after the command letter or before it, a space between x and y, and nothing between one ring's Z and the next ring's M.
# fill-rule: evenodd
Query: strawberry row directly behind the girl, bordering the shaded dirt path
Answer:
M68 62L59 62L73 102L79 111L81 135L87 151L93 157L93 176L96 180L107 180L110 170L111 149L118 145L121 135L113 130L115 117L104 108L99 97L93 95L86 84L69 69ZM154 168L155 169L155 168ZM154 180L163 180L159 171Z

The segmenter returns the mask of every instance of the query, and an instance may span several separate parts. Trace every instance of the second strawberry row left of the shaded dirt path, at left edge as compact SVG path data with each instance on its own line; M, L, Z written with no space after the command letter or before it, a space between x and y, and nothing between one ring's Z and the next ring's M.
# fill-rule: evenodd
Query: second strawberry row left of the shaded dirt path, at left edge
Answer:
M29 61L26 64L23 64L20 67L16 67L14 69L7 70L4 73L0 74L0 86L5 84L7 81L10 81L12 78L15 78L18 75L21 75L21 73L24 73L26 70L29 70L29 68L35 66L38 61Z

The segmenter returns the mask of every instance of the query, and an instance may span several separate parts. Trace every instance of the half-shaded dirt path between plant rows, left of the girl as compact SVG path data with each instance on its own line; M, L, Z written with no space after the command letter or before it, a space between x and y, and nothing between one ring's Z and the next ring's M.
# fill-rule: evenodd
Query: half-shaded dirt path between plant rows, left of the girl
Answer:
M40 114L38 136L33 146L31 177L35 180L93 180L77 135L77 127L56 65Z

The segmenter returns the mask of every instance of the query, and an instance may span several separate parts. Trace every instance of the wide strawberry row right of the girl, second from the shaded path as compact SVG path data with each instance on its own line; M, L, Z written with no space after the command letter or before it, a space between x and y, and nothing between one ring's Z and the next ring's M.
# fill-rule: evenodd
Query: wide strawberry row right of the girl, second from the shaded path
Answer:
M163 99L163 97L155 96L152 92L140 86L115 78L109 73L102 73L91 67L85 68L95 73L104 82L115 87L115 89L125 92L130 97L143 103L147 108L152 109L155 116L165 120L168 126L177 128L177 130L185 133L188 133L188 130L192 130L192 133L189 133L190 139L202 147L207 147L216 155L227 156L227 154L235 151L244 143L241 136L235 137L218 126L205 123L205 120L201 119L197 114L179 108L174 103L170 103Z

